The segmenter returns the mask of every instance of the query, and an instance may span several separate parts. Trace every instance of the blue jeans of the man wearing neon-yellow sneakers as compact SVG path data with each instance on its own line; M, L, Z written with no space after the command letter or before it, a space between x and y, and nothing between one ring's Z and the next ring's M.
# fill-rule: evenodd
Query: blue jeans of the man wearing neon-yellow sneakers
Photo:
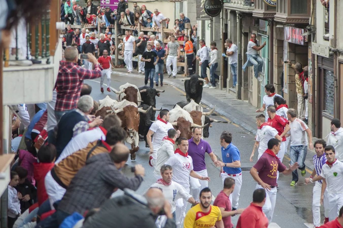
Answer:
M292 146L289 150L289 155L291 157L291 165L298 162L299 169L304 170L305 169L305 159L307 154L307 145L298 145L298 146ZM292 181L297 182L299 180L298 176L298 170L294 170L292 172Z

